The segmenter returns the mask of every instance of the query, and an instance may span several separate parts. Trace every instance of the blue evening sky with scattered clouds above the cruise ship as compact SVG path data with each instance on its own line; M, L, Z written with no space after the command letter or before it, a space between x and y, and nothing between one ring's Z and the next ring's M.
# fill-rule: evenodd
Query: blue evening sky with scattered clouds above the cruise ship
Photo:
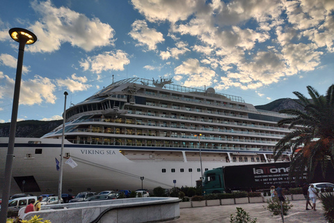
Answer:
M10 122L20 27L26 45L18 121L67 108L130 77L237 95L253 105L325 94L334 82L334 1L4 0L0 123Z

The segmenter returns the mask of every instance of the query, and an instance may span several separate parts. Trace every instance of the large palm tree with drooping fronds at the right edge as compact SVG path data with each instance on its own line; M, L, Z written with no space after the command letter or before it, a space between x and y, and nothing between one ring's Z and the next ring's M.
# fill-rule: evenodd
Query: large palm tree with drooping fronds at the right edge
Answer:
M326 95L319 95L312 86L307 89L311 99L294 92L299 98L294 101L303 106L303 111L281 110L280 113L291 117L278 121L278 126L289 125L289 129L294 129L278 141L273 151L276 161L283 152L292 149L290 179L294 175L301 177L305 168L312 179L318 164L321 164L323 176L328 164L334 167L334 84Z

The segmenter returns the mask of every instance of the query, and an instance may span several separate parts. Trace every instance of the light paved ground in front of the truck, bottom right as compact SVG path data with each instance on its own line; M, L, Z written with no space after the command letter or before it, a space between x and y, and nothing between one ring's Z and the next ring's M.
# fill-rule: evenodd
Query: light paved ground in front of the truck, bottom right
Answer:
M305 201L290 201L293 207L285 216L285 223L326 223L324 210L321 203L317 201L317 210L305 210ZM230 215L235 214L237 207L244 208L251 218L256 217L257 223L279 223L280 216L272 216L269 210L264 210L267 203L244 203L230 206L211 206L201 208L181 208L180 218L168 223L228 223Z

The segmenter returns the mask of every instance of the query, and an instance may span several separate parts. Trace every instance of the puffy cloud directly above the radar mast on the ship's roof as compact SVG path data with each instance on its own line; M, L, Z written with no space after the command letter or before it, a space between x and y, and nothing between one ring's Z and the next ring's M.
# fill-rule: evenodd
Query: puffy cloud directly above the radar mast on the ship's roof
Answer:
M214 77L216 77L214 70L200 66L200 62L197 59L184 61L174 69L174 72L185 77L184 86L210 86Z

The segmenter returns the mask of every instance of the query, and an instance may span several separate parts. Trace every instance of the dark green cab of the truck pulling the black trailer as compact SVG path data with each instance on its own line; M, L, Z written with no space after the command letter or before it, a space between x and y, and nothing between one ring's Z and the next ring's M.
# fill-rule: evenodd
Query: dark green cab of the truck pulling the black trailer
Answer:
M205 171L202 185L204 194L223 193L225 191L223 168L219 167Z

